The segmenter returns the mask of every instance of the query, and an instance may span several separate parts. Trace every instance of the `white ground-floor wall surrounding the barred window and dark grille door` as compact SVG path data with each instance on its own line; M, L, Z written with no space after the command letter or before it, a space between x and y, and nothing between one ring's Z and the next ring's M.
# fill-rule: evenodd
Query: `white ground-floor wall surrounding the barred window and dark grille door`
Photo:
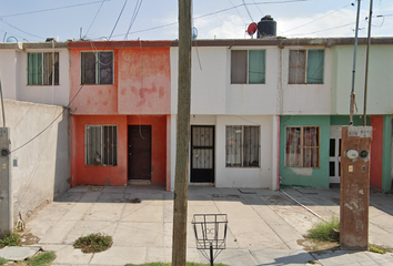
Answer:
M273 115L192 115L191 125L214 125L214 178L216 187L269 187L276 186L276 158L272 156L272 142L276 132L273 132ZM175 132L177 115L171 117L171 131ZM259 125L260 126L260 167L226 167L225 165L225 130L226 125ZM175 134L171 135L171 187L173 190L175 167ZM190 168L190 166L189 166ZM190 178L189 178L190 180Z

